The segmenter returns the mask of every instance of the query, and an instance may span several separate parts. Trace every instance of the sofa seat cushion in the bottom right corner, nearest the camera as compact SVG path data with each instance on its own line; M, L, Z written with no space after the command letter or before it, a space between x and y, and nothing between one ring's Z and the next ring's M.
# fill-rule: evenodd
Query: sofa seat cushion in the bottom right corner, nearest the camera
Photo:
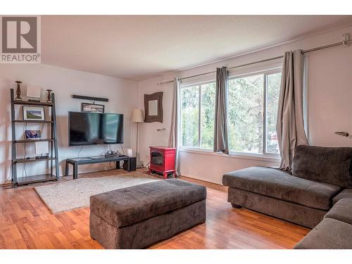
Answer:
M325 218L294 249L352 249L352 225Z

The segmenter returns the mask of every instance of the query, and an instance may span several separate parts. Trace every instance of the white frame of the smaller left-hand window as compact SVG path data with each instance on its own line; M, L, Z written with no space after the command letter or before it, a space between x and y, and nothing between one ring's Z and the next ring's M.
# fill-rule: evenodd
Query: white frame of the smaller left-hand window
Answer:
M214 83L216 85L216 81L215 80L208 80L208 81L203 81L203 82L193 82L193 83L189 83L189 84L184 84L180 85L180 113L179 113L179 123L180 123L180 149L191 149L191 150L197 150L197 151L213 151L213 149L205 149L201 147L201 103L202 103L202 94L201 94L201 87L202 85L205 84L211 84ZM198 96L199 96L199 103L198 103L198 146L182 146L182 89L187 89L189 87L195 87L198 86ZM215 108L215 105L214 105Z

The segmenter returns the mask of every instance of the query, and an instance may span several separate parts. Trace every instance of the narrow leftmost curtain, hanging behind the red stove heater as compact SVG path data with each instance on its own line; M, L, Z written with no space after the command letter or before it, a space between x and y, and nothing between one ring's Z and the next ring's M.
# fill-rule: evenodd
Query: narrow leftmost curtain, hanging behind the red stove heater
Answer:
M171 127L170 127L170 137L169 137L169 146L176 148L176 161L175 161L175 170L176 174L180 175L179 171L179 158L178 158L178 148L179 148L179 137L178 137L178 99L180 91L180 80L175 78L173 94L172 94L172 113L171 113Z

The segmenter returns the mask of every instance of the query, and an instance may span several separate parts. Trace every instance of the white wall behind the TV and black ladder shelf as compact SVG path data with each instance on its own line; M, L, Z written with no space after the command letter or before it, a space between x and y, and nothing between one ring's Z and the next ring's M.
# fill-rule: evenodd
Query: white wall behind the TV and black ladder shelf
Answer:
M137 82L115 77L85 73L78 70L58 68L50 65L0 65L0 183L8 177L11 164L11 105L10 88L15 88L15 80L23 82L23 95L26 85L34 84L42 87L42 96L45 99L45 89L52 89L56 96L56 116L58 132L58 154L60 171L64 173L65 158L76 157L80 146L68 147L68 111L80 111L82 100L72 99L72 94L99 96L109 99L105 105L106 113L124 114L124 148L131 147L132 138L135 138L134 129L130 122L133 108L137 107ZM85 101L87 102L87 101ZM96 102L98 103L98 102ZM20 110L20 106L18 106ZM18 138L23 138L23 125L17 125ZM38 126L28 126L27 129L36 129ZM133 133L132 133L133 132ZM113 149L120 149L119 145L112 145ZM27 155L34 149L27 144ZM84 146L80 156L100 155L106 151L104 146ZM18 156L23 155L23 147L18 146ZM34 154L33 154L34 155ZM42 174L47 169L46 162L28 163L27 175ZM104 170L108 164L83 165L80 172ZM72 170L72 169L71 169ZM18 167L18 177L23 175L23 169Z

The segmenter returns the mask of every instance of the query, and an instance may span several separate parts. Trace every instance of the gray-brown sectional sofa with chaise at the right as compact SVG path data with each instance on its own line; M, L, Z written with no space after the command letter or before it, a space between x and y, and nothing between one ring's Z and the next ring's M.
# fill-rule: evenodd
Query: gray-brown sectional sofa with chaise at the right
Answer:
M222 184L236 208L316 226L297 249L352 248L351 147L298 146L292 172L251 167L226 173Z

